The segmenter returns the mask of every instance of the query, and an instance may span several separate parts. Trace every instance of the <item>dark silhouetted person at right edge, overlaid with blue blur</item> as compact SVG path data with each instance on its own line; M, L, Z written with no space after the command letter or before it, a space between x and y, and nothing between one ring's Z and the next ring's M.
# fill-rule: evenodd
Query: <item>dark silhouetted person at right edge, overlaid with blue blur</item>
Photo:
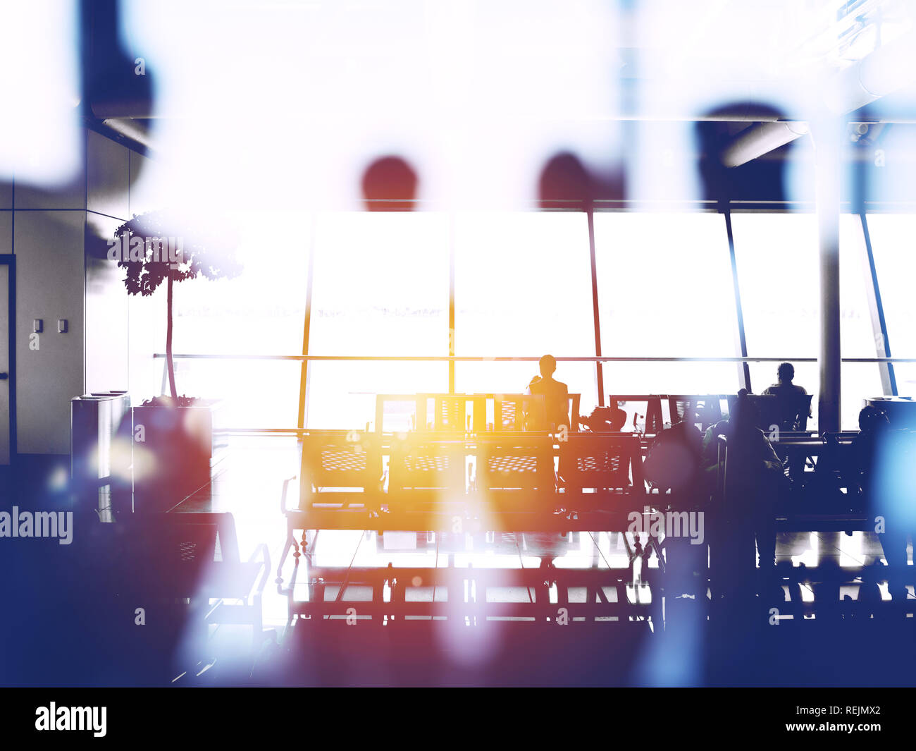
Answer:
M888 562L891 597L906 598L907 536L916 532L916 436L893 430L883 410L859 413L853 461L869 528L874 528Z

